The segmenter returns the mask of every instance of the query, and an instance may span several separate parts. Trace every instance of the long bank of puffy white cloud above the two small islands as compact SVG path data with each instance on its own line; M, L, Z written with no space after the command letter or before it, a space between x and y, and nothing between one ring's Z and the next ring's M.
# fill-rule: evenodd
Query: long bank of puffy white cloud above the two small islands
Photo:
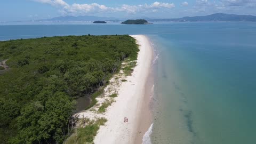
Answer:
M53 6L61 7L59 12L62 14L88 14L88 13L110 13L110 12L126 12L126 13L137 13L137 12L156 12L157 9L171 9L175 7L173 3L160 3L154 2L150 5L127 5L123 4L119 7L108 7L97 3L92 4L67 4L63 0L34 0L36 2L51 4Z

